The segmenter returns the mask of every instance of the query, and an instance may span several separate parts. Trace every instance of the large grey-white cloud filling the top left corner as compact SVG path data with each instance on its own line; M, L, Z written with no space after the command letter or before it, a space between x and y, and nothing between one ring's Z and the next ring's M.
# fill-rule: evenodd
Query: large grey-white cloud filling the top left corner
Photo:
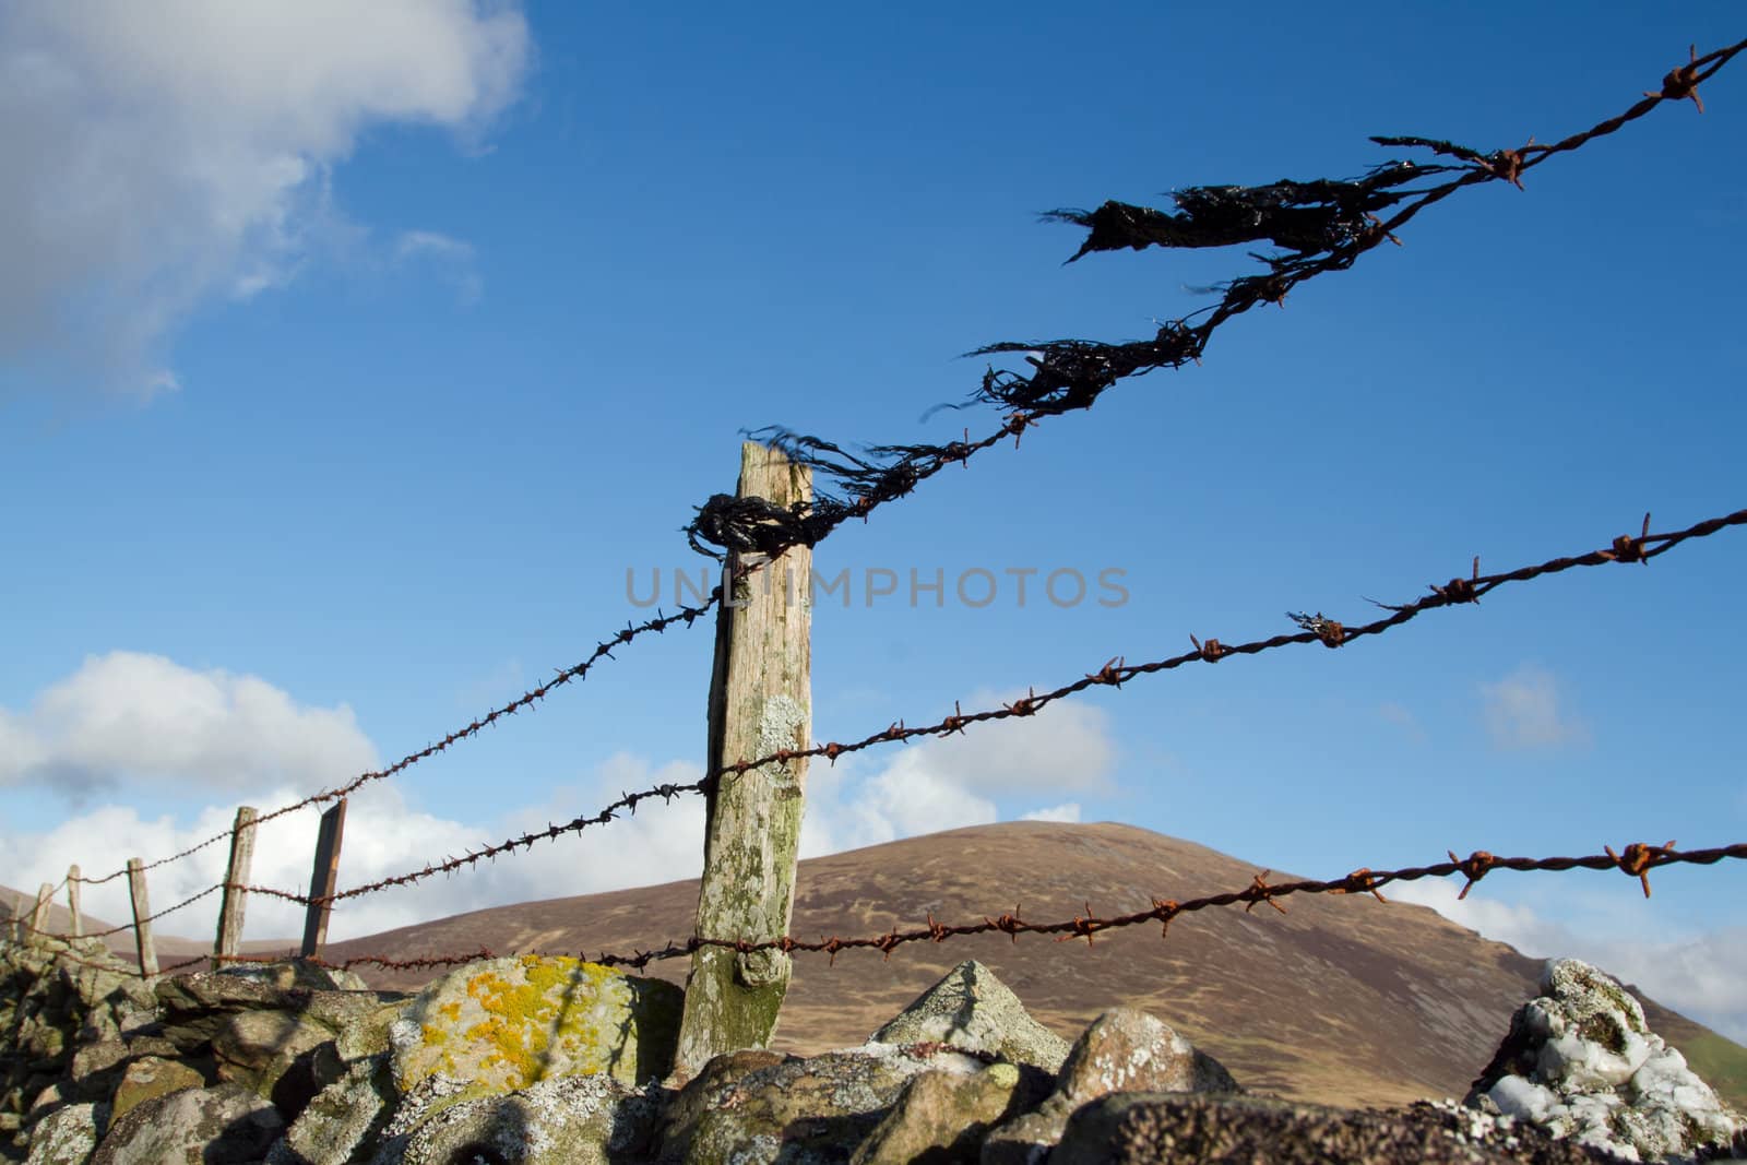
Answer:
M23 3L0 45L0 362L138 398L176 388L162 348L192 307L346 231L328 178L365 129L477 141L531 54L517 10L475 0Z

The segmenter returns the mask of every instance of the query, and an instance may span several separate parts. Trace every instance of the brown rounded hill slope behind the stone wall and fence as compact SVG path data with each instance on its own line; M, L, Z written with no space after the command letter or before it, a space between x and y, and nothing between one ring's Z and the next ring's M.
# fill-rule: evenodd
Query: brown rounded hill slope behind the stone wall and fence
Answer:
M578 845L585 859L585 849ZM933 913L966 922L1015 910L1067 919L1148 910L1151 898L1242 889L1258 868L1127 824L1005 823L952 830L804 861L802 938L912 929ZM1286 880L1277 873L1274 880ZM697 882L557 898L456 915L332 945L328 959L494 952L631 952L692 931ZM776 1046L818 1051L868 1032L963 959L980 959L1064 1037L1099 1011L1141 1006L1167 1020L1247 1086L1329 1104L1460 1097L1511 1011L1536 994L1539 961L1480 938L1424 906L1370 896L1295 896L1288 913L1214 908L1157 926L1057 943L1045 936L954 938L900 947L889 959L849 950L830 966L800 954ZM650 966L683 982L688 961ZM416 987L428 973L372 973ZM1656 1004L1651 1024L1675 1046L1730 1060L1747 1050ZM1737 1097L1740 1102L1740 1097Z

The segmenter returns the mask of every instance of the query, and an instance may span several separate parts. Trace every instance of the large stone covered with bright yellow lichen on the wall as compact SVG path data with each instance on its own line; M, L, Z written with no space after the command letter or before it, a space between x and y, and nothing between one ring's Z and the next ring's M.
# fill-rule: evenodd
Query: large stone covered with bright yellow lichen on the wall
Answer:
M390 1027L395 1085L444 1074L487 1092L603 1072L627 1086L673 1071L685 992L570 957L458 968Z

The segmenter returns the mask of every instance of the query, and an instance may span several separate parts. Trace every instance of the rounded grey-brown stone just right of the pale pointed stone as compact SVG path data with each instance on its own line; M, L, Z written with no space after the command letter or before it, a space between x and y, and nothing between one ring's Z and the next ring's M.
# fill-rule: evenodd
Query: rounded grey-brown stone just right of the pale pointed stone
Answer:
M1113 1092L1239 1093L1242 1088L1225 1065L1158 1017L1137 1008L1111 1008L1074 1041L1055 1092L1031 1113L989 1132L982 1160L1020 1163L1041 1158L1060 1141L1076 1109Z

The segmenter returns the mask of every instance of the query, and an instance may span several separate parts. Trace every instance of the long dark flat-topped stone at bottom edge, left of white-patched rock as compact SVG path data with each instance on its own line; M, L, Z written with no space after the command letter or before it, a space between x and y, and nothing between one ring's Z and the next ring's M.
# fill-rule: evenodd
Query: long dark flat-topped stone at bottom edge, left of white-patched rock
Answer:
M1537 1130L1462 1120L1455 1106L1359 1113L1184 1092L1099 1097L1073 1113L1060 1144L1048 1155L1050 1165L1597 1165L1611 1160Z

